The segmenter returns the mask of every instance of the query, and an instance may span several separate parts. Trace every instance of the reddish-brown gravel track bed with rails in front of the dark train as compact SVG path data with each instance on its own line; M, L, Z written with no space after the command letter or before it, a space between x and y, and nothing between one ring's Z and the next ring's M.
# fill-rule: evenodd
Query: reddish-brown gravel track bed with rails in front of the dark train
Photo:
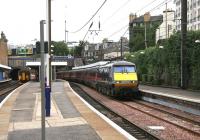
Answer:
M74 88L76 85L71 84L71 86ZM120 122L123 122L121 121L123 119L129 122L129 124L131 123L135 126L139 126L143 131L155 136L155 139L193 140L200 138L199 116L139 100L117 100L98 94L96 91L83 85L78 86L87 92L90 97L94 98L93 100L99 102L104 108L117 115L111 115L111 117L106 115L108 118L113 121L115 120L114 118L116 118L116 120L120 120ZM82 94L80 94L80 96L84 96ZM118 116L122 119L119 119ZM120 125L120 122L116 122L116 124L123 128L123 125ZM151 126L158 126L162 129L153 129L150 128ZM132 126L128 127L128 130L132 129ZM127 130L126 127L124 129ZM127 132L129 132L128 130ZM132 134L131 132L129 133ZM134 133L132 135L135 136Z

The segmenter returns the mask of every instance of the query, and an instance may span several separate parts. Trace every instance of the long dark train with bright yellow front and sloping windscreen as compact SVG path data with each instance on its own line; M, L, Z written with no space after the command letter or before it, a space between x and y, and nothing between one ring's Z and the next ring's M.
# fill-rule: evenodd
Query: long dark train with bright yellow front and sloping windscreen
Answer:
M136 66L127 61L101 61L74 67L57 72L57 78L83 83L109 96L140 96Z

